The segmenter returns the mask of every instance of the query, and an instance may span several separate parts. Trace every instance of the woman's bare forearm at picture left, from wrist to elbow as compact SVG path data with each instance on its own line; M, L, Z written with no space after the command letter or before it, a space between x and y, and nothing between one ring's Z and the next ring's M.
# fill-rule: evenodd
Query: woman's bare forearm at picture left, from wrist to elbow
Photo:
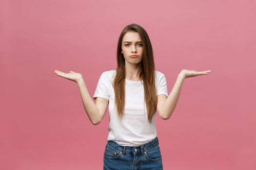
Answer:
M80 91L80 95L81 95L81 99L82 99L82 102L83 102L83 107L85 109L85 112L87 113L90 121L93 124L97 124L97 122L99 122L98 107L93 102L83 79L78 81L77 84L78 84L78 87L79 87L79 91Z

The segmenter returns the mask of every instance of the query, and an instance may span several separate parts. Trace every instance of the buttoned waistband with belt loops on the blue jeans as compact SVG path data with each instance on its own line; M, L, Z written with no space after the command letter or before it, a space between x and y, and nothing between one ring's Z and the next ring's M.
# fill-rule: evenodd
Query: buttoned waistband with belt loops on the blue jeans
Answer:
M134 154L142 153L142 154L144 154L144 152L151 150L152 148L155 148L158 145L159 145L158 137L156 137L154 140L152 140L148 143L145 143L140 146L134 146L134 147L133 146L121 146L112 140L108 140L106 147L115 149L116 151L118 151L118 153L121 152L124 155L125 153L134 153Z

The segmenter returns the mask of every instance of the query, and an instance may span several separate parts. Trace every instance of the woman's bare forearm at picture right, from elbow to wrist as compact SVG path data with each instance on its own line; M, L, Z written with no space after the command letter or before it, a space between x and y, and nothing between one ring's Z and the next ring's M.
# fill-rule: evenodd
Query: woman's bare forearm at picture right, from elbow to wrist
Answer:
M166 99L162 106L162 113L165 114L163 115L163 117L166 119L169 119L173 114L173 111L178 102L179 94L184 80L184 75L179 74L170 95L168 96L168 98Z

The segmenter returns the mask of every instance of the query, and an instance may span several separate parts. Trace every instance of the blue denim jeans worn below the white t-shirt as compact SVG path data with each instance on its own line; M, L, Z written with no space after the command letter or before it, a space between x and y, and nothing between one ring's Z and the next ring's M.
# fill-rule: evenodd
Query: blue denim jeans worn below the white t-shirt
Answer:
M163 170L158 137L137 147L108 141L103 170Z

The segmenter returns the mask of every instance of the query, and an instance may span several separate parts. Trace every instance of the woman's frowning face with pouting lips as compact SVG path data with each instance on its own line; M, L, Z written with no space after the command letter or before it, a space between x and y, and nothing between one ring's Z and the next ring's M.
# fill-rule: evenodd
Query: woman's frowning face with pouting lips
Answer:
M127 32L122 39L122 53L125 64L138 64L142 61L143 46L140 36L137 32ZM133 57L132 55L137 55Z

